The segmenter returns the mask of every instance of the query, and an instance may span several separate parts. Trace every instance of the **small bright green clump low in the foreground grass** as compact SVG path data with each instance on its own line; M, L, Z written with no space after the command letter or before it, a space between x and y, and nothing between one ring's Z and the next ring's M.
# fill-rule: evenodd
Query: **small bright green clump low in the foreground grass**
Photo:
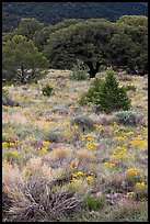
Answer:
M101 197L88 195L84 199L84 205L91 211L96 210L103 206L104 200L105 200L104 194L102 194Z

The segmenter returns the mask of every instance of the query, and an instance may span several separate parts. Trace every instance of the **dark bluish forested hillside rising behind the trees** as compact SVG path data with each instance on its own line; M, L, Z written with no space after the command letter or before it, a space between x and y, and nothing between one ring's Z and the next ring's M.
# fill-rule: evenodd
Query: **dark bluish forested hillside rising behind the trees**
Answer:
M111 21L127 14L148 15L145 2L3 2L2 31L10 32L21 18L36 18L46 24L65 19L106 18Z

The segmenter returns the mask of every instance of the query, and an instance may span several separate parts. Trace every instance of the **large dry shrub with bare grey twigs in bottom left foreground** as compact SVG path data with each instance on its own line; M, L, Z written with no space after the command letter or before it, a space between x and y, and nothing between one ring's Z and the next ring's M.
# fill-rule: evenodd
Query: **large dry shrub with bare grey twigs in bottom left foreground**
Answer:
M32 158L21 171L3 169L2 209L8 222L56 221L62 213L72 212L82 203L74 192L64 190L57 182L57 169ZM4 188L5 187L5 188Z

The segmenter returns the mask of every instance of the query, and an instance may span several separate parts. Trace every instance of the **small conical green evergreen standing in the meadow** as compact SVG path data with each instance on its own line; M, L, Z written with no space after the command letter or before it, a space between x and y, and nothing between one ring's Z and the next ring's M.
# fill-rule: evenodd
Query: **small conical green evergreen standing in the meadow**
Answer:
M79 103L81 105L93 103L100 111L111 113L117 110L129 110L130 99L124 87L118 87L114 70L108 68L105 80L96 78L92 87L84 93Z

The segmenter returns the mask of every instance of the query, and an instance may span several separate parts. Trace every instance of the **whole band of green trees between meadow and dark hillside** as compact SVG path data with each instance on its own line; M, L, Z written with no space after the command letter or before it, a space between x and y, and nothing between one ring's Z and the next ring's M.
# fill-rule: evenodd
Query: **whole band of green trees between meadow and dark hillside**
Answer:
M123 15L116 22L70 19L48 26L23 18L18 29L3 33L3 80L24 83L41 69L72 69L78 60L90 78L102 66L148 74L148 18Z

